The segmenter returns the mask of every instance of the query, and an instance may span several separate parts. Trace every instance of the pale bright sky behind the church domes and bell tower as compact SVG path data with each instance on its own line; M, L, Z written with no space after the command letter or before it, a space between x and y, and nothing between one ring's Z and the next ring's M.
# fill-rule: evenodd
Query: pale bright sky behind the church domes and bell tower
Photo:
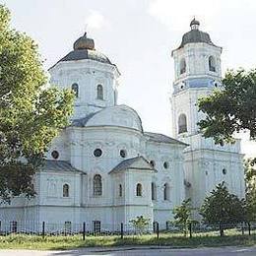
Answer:
M144 129L171 136L171 50L196 17L223 47L222 67L256 67L255 0L0 0L12 26L38 43L45 70L85 31L121 72L118 103L137 110ZM242 152L256 155L242 135Z

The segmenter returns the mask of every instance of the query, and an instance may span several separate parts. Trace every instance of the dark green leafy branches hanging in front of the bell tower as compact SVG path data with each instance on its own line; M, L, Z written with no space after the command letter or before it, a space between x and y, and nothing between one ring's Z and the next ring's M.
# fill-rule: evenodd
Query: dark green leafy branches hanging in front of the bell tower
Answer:
M234 132L249 131L256 139L256 69L227 71L222 90L199 99L199 110L206 114L198 124L206 138L217 144L234 142Z

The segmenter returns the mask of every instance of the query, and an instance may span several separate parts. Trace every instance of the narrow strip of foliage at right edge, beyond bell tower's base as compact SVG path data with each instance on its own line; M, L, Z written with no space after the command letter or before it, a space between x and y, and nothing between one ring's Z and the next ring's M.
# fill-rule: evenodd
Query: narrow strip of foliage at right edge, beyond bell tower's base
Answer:
M256 221L256 168L255 160L248 159L244 162L246 184L246 219L248 222Z

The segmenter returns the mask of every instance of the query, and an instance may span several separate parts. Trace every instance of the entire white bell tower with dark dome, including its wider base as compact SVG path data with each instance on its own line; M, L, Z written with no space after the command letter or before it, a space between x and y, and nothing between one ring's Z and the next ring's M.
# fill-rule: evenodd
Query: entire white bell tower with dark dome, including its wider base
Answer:
M174 82L171 96L172 134L187 143L184 150L185 193L194 209L199 209L204 198L217 184L224 181L228 190L244 196L243 155L240 142L224 147L205 139L197 123L204 118L197 102L222 87L222 47L211 40L207 32L199 30L195 19L190 23L181 44L172 51ZM200 219L195 212L195 217Z

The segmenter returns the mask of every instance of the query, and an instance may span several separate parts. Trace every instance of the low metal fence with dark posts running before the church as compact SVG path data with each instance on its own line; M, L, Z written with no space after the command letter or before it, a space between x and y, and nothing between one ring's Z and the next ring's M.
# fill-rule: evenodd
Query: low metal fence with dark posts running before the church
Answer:
M0 221L0 235L81 235L84 239L89 235L117 235L123 238L129 235L152 234L171 236L213 236L225 234L256 235L256 223L239 224L159 224L154 222L144 226L134 224L103 224L99 221L74 224L71 222L52 224L32 221Z

